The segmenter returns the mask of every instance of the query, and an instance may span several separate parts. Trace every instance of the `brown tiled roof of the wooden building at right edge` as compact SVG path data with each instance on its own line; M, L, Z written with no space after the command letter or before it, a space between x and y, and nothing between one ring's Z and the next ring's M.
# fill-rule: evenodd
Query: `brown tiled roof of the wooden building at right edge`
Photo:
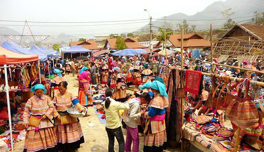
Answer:
M239 37L239 36L252 36L255 38L255 40L264 40L264 25L262 24L235 24L235 26L230 29L223 37Z

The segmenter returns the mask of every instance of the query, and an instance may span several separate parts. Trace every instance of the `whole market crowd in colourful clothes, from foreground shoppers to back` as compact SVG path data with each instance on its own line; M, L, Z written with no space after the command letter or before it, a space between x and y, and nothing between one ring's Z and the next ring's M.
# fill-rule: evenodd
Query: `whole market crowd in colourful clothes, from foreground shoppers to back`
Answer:
M204 70L210 69L210 64L202 63L206 57L201 58L203 59L193 60L190 54L184 54L184 66L193 70L201 67ZM53 88L53 92L47 94L46 81L32 85L31 91L34 96L25 104L23 114L23 125L27 128L24 151L70 151L80 148L80 144L84 143L80 120L70 116L67 110L74 106L79 113L83 112L84 116L89 116L86 107L93 105L92 86L95 85L106 88L102 105L106 115L108 151L114 151L114 138L116 138L120 152L138 152L139 136L144 136L143 151L167 149L165 114L169 106L168 66L180 65L180 61L180 54L171 54L167 57L106 55L98 58L87 56L85 60L61 59L56 65L41 64L41 77L45 80L45 74L49 72L49 87ZM249 64L245 61L240 65L234 60L232 64L236 67L257 69L257 62ZM215 67L215 70L219 69L221 67ZM238 69L231 71L235 75L246 73ZM78 80L77 97L67 92L68 83L65 74L72 74ZM253 72L251 75L254 77L256 73ZM133 95L126 92L131 85L135 85ZM200 108L198 105L202 105L207 100L212 86L211 78L204 76L202 86L200 97L193 94L186 96L189 112L184 111L185 121L190 121L191 113L195 113L196 110L198 112ZM15 92L9 93L11 113L15 114L21 105L14 98ZM0 105L3 110L7 109L5 98L6 94L2 92ZM122 109L125 111L121 116ZM126 140L121 127L127 130Z

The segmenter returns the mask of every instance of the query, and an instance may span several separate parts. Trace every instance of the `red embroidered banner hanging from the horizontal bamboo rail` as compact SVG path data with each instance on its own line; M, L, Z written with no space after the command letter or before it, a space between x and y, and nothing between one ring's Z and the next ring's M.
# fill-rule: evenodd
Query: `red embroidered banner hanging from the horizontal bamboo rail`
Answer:
M186 79L185 79L185 92L191 92L198 95L200 82L201 82L201 71L186 71Z

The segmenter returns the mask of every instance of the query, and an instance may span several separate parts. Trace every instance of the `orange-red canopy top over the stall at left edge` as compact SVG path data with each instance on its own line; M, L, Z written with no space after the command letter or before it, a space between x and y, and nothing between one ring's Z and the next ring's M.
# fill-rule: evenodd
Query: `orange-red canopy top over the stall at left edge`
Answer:
M0 47L0 65L3 64L19 64L39 60L38 55L26 55L9 51Z

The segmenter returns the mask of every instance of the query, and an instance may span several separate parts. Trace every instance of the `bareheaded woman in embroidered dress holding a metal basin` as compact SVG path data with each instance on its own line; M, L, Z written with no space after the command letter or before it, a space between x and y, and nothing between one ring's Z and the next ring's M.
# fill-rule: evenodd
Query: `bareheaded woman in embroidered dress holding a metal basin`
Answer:
M55 105L54 111L54 125L56 136L58 138L58 149L62 151L71 151L80 148L80 144L84 143L83 131L78 118L69 116L67 109L75 106L79 112L86 113L80 104L79 100L72 93L67 92L66 82L60 82L59 93L54 97L53 103ZM61 117L69 116L71 122L61 124Z

